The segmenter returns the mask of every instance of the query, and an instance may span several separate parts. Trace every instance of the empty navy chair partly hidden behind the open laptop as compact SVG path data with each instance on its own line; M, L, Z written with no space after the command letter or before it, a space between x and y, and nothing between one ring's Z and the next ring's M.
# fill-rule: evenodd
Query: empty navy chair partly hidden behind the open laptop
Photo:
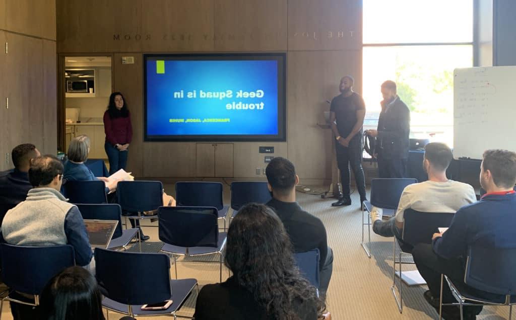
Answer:
M127 244L134 238L140 237L138 228L131 228L122 230L122 209L117 204L101 204L101 205L85 205L76 204L79 208L80 214L83 219L93 220L117 220L118 225L113 233L113 237L107 246L108 249L122 248L126 249Z

